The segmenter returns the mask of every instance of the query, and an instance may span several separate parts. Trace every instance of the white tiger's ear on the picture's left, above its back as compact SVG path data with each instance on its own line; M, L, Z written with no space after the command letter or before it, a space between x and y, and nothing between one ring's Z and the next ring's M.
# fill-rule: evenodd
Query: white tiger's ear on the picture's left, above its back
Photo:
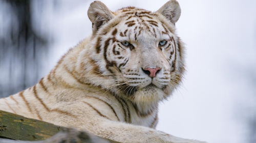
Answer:
M88 17L92 21L94 35L103 24L114 18L114 14L103 3L94 1L88 9Z

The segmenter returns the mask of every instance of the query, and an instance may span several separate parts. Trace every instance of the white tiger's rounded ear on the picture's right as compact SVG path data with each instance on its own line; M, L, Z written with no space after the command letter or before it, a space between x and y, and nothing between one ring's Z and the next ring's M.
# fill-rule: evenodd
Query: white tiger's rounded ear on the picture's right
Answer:
M179 3L176 0L170 0L164 4L157 12L175 24L180 18L181 9Z

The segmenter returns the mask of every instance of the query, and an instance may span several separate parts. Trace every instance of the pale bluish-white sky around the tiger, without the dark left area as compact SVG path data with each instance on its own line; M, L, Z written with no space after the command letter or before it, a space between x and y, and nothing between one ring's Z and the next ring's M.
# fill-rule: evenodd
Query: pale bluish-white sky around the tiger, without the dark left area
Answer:
M91 34L91 2L33 1L35 29L51 41L41 76ZM126 6L157 11L167 1L101 2L112 11ZM256 117L256 1L178 2L176 26L186 43L187 72L182 87L161 103L157 129L208 142L249 142L247 123Z

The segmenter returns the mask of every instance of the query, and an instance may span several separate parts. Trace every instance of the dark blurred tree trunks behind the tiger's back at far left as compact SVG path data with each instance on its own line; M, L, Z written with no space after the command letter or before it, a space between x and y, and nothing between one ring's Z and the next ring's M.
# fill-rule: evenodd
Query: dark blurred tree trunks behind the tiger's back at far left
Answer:
M10 7L9 11L2 13L10 22L0 23L9 29L0 37L1 98L27 89L38 81L39 69L47 53L47 41L35 32L32 25L30 0L0 1Z

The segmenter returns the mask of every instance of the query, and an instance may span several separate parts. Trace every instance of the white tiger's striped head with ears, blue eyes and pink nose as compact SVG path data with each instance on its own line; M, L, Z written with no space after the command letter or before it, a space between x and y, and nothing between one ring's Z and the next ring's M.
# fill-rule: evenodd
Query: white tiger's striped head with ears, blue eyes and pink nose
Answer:
M93 2L88 10L93 34L80 54L89 69L85 74L95 75L87 80L133 102L168 97L184 72L184 47L175 32L180 13L175 0L157 12L135 7L111 12Z

